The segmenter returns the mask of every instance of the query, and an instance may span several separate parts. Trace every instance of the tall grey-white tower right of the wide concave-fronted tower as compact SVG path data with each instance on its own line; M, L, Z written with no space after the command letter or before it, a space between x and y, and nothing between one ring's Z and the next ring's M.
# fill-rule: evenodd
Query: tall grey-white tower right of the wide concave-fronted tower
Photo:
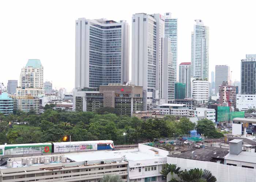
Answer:
M132 84L143 86L144 110L152 110L153 100L161 95L163 18L160 14L132 15Z

